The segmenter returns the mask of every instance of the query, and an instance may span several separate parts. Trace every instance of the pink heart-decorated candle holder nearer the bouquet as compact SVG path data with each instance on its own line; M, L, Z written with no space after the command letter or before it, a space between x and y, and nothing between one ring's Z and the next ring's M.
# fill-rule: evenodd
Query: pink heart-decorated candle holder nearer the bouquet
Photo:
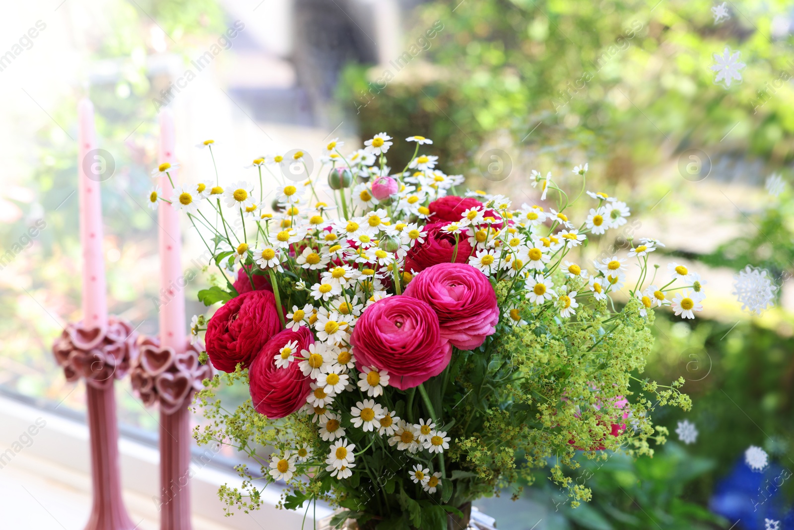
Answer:
M183 351L141 336L130 369L133 389L144 404L160 407L160 530L190 530L191 426L187 406L212 368L198 362L200 345Z

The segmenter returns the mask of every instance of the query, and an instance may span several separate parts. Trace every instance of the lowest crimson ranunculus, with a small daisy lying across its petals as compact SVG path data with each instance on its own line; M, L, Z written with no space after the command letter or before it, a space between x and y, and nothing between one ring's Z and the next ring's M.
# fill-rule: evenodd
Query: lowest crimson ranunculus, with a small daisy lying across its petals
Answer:
M291 362L287 368L276 366L276 354L292 341L298 342L294 353L300 354L301 350L308 350L314 343L314 337L305 326L299 327L298 331L281 331L264 345L249 369L253 408L270 419L297 412L306 404L306 396L311 392L310 379L303 375L298 361Z

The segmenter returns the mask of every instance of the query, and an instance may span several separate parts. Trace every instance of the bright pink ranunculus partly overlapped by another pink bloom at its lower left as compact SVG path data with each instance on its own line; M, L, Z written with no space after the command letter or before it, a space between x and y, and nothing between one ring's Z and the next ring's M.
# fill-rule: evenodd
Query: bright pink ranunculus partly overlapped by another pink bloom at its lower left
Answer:
M461 350L473 350L496 331L496 293L488 277L472 265L428 267L410 280L404 294L430 304L438 315L441 337Z

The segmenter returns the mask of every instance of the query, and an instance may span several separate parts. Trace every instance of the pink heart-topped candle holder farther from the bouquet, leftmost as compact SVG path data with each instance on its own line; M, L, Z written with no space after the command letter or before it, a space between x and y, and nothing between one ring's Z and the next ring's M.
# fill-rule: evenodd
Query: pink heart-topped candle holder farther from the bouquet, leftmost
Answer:
M70 323L56 339L52 353L67 381L86 381L94 499L85 528L133 530L121 498L114 381L124 377L137 358L137 332L112 315L105 327Z

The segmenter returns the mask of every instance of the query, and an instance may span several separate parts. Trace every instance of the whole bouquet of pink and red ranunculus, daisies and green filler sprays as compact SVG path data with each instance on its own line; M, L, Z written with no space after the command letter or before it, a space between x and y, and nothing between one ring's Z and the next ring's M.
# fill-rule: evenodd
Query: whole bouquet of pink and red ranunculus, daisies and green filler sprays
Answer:
M240 468L241 489L221 489L227 510L256 509L280 481L285 508L341 507L334 525L440 530L544 467L573 506L587 501L565 474L576 455L653 455L668 434L653 408L690 407L683 378L638 375L653 310L694 318L703 282L676 263L660 273L649 257L661 242L632 235L625 255L584 266L588 238L629 234L630 217L618 199L583 195L587 164L573 169L572 203L592 207L574 223L551 173L530 176L538 203L459 195L463 177L437 168L430 139L407 138L414 156L397 172L392 140L347 155L331 141L317 172L301 151L256 158L258 186L172 191L217 266L199 298L222 303L192 323L203 361L225 372L198 393L209 421L195 436L260 464ZM251 399L227 410L216 392L240 384Z

